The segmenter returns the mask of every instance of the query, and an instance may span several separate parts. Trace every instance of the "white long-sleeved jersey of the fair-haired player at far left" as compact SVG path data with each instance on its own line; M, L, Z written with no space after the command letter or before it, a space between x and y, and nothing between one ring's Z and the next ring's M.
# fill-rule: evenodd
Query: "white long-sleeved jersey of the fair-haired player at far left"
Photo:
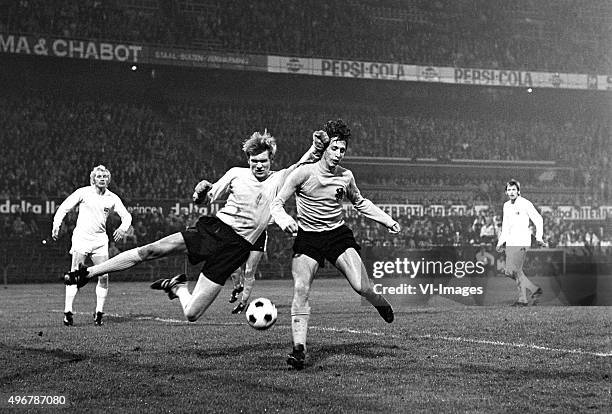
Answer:
M121 230L127 231L132 224L132 216L115 193L106 189L104 194L98 194L94 186L88 186L79 188L60 204L53 217L53 228L59 230L66 214L76 206L79 206L79 215L72 234L74 251L88 253L83 251L82 245L99 247L108 244L106 219L111 211L121 217Z

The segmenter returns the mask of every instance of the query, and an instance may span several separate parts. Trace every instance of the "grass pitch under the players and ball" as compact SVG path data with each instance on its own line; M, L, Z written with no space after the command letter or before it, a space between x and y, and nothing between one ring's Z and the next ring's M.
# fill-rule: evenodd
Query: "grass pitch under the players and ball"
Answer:
M612 411L612 308L400 307L393 324L341 279L315 280L308 367L292 371L291 283L258 281L268 331L231 315L230 287L202 319L148 283L113 283L94 326L94 284L62 325L60 284L0 289L0 412L11 396L64 396L22 410L71 412Z

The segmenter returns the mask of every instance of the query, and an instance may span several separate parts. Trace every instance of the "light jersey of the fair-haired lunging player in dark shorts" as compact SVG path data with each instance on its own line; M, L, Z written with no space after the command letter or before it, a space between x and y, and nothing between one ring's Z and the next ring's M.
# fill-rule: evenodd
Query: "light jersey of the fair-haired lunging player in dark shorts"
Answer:
M254 244L268 227L270 203L288 173L288 169L275 171L264 181L259 181L249 168L229 169L208 193L211 202L229 193L225 206L217 212L217 218Z

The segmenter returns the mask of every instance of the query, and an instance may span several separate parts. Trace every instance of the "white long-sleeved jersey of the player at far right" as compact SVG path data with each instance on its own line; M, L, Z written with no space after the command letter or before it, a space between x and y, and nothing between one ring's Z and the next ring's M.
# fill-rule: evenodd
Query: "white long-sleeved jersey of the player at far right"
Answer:
M504 218L502 231L497 244L501 246L531 246L531 229L529 219L536 228L536 240L542 240L543 220L531 201L518 196L514 203L510 200L504 203Z

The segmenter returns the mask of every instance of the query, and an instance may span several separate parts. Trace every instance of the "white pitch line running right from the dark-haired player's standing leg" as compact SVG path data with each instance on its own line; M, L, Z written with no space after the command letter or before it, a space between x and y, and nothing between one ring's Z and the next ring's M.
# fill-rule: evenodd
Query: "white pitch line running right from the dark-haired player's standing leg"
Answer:
M394 335L394 334L383 334L380 332L372 332L372 331L361 331L356 329L338 329L338 328L330 328L330 327L322 327L322 326L312 326L311 329L318 331L328 331L328 332L338 332L338 333L353 333L353 334L364 334L364 335L372 335L372 336L388 336L394 339L401 339L402 336ZM591 355L596 357L612 357L612 352L591 352L584 351L582 349L563 349L563 348L551 348L542 345L535 344L523 344L523 343L514 343L514 342L501 342L501 341L491 341L487 339L471 339L471 338L463 338L460 336L441 336L441 335L415 335L411 336L411 338L416 339L433 339L433 340L442 340L449 342L464 342L464 343L472 343L472 344L481 344L481 345L493 345L493 346L502 346L507 348L528 348L534 349L537 351L548 351L548 352L563 352L567 354L578 354L578 355Z

